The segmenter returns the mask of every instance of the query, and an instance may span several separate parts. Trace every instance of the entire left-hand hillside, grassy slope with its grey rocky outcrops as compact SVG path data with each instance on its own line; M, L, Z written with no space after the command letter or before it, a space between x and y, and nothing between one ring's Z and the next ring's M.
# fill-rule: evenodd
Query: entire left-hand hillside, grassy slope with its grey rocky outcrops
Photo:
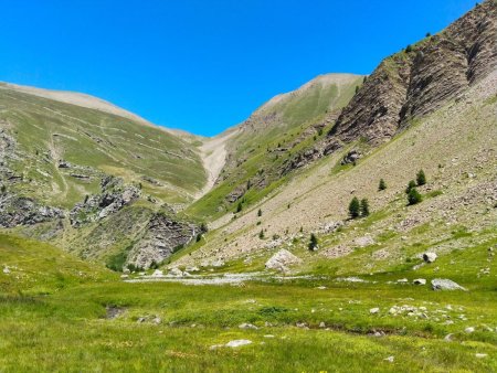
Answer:
M194 237L172 210L205 186L199 140L89 96L4 84L0 125L1 227L119 270Z

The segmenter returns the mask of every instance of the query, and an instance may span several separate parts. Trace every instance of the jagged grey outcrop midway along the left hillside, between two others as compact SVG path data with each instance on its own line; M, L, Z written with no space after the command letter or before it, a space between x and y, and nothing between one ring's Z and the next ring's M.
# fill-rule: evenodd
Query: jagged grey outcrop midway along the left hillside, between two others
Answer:
M102 194L92 195L77 203L70 213L71 225L77 227L113 214L138 199L140 190L125 185L123 179L106 177L101 182Z

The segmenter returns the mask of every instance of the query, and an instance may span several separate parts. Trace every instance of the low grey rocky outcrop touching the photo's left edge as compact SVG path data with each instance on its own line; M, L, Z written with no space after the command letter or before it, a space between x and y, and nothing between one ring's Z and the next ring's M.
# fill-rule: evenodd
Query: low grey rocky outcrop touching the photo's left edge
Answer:
M62 210L42 205L33 199L9 193L0 194L0 227L33 225L63 217Z

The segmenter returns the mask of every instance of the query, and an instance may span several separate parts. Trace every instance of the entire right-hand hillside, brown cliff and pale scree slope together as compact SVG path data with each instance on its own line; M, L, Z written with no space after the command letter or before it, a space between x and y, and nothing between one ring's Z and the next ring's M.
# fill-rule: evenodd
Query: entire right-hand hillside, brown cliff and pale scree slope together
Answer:
M304 172L261 203L220 216L205 241L179 255L178 264L245 260L236 268L262 269L285 247L304 257L300 269L357 274L357 263L364 273L390 270L426 248L448 254L467 245L467 236L495 238L496 8L486 1L411 52L383 61L332 130L314 141L317 156ZM446 71L438 68L454 58L447 40L473 51L457 74L447 63ZM421 169L429 175L420 186L425 201L408 207L405 186ZM382 178L388 190L379 192ZM368 199L373 214L349 220L353 196ZM458 237L461 232L469 233ZM317 254L307 249L310 233L320 242ZM362 246L368 249L358 249Z

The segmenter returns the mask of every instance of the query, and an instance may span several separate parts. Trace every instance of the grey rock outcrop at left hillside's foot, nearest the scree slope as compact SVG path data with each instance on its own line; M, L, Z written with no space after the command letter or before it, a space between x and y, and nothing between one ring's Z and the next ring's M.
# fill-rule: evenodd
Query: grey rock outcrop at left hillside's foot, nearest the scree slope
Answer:
M154 262L162 263L177 249L188 245L198 232L200 231L195 225L179 221L172 214L158 213L133 247L127 264L148 268Z

